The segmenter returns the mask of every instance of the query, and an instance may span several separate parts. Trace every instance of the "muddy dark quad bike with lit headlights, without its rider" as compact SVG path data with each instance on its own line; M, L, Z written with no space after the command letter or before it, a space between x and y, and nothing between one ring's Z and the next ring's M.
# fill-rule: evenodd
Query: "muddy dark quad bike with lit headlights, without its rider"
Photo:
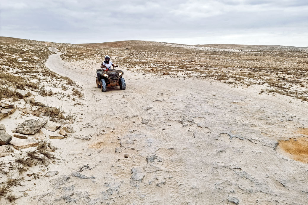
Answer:
M98 69L96 71L96 86L100 88L102 92L106 92L107 87L120 86L121 90L125 90L126 84L122 70L115 69Z

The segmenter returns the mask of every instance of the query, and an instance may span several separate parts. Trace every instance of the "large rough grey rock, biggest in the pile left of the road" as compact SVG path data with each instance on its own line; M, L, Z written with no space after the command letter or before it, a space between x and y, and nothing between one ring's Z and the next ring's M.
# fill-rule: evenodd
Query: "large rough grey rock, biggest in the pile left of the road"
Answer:
M18 125L16 132L20 134L35 134L39 129L41 129L47 122L44 120L25 120L22 124Z

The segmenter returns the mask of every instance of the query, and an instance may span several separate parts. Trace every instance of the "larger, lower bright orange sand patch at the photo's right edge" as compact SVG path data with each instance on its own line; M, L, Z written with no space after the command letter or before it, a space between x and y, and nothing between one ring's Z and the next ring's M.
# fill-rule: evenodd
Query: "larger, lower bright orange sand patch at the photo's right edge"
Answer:
M296 141L295 141L296 140ZM308 138L300 137L287 141L278 141L279 147L291 155L294 160L308 163Z

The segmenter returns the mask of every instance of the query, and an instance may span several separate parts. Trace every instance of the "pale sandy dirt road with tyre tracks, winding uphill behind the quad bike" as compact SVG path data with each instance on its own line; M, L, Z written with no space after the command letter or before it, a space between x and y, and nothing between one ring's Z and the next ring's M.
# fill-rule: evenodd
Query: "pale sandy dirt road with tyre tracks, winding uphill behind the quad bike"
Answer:
M298 129L307 127L307 103L125 69L126 90L103 93L95 86L99 64L64 62L60 54L46 65L83 88L83 106L63 107L81 121L75 136L91 140L57 143L59 174L38 181L28 203L308 203L307 163L278 146L305 137Z

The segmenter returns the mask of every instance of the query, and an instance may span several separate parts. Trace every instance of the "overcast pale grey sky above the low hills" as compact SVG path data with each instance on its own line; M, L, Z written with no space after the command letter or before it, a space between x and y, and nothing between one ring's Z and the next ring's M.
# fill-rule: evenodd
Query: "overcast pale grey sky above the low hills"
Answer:
M308 0L0 0L0 36L308 46Z

